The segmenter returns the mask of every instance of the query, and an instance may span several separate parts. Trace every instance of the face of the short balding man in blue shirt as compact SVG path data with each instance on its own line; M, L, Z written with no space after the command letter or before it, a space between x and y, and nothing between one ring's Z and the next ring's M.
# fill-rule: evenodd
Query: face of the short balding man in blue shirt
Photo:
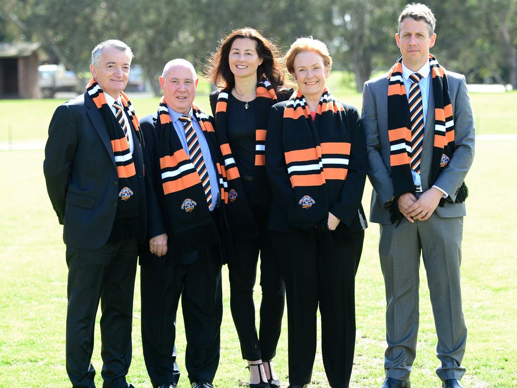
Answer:
M195 98L197 78L191 68L174 65L160 77L160 86L167 105L179 113L188 114Z

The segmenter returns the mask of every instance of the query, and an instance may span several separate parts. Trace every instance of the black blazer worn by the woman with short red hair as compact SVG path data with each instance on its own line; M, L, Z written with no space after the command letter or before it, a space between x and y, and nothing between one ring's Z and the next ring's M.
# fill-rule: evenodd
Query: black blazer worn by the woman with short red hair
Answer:
M292 186L287 175L287 167L282 142L282 123L286 101L271 107L266 135L266 171L273 193L268 228L280 232L293 232L297 229L288 220L287 211L292 206ZM345 223L351 232L367 228L366 216L361 205L364 182L368 168L366 140L361 127L359 113L351 105L342 103L347 121L343 133L348 132L351 139L351 153L348 174L341 192L330 193L339 203L329 203L329 211ZM325 139L324 129L318 128L320 139ZM337 141L339 139L332 139ZM328 191L327 187L327 191ZM291 198L291 200L287 200Z

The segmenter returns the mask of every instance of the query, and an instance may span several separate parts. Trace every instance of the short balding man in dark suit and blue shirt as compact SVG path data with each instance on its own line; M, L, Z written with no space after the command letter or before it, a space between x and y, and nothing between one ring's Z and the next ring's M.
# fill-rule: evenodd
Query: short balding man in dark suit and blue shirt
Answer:
M222 319L217 144L211 117L193 105L198 82L185 59L165 65L158 112L142 119L148 246L140 253L142 343L154 387L175 388L181 296L192 388L213 387Z

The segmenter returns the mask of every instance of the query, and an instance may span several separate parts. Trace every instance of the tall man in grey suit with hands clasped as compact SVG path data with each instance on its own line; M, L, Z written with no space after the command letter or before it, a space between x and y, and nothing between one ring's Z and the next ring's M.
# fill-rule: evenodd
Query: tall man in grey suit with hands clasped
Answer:
M410 4L395 35L401 57L364 84L362 125L373 185L372 222L380 224L379 257L386 287L386 380L410 387L418 334L422 255L438 336L443 387L461 387L467 330L460 287L461 241L474 157L474 121L465 77L446 71L429 49L435 18Z

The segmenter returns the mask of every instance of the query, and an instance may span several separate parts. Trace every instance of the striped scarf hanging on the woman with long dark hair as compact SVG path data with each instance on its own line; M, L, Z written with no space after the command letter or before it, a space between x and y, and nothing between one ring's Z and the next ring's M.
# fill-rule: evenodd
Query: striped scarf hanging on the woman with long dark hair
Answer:
M253 168L253 196L246 198L240 173L235 164L235 159L226 135L226 120L228 99L230 89L222 89L217 96L217 105L215 109L216 133L221 153L224 159L222 174L227 180L227 186L224 187L223 200L228 204L228 216L231 220L232 233L240 237L253 237L256 235L256 225L253 215L251 214L249 202L256 205L263 204L264 211L268 210L270 192L268 190L268 182L265 169L265 145L266 145L266 128L269 118L271 106L278 99L275 89L271 83L265 78L261 78L257 82L255 106L256 129L255 129L255 164Z

